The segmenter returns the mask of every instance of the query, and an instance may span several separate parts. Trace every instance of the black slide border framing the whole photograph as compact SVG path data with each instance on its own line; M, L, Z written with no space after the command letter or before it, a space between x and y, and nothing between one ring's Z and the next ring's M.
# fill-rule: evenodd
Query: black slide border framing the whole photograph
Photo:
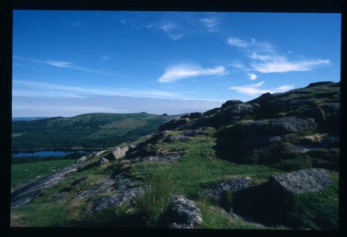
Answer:
M5 164L3 165L5 172L1 172L5 176L6 188L5 195L2 195L4 202L2 204L6 209L6 227L10 227L10 159L6 157L10 156L10 133L11 133L11 119L12 119L12 10L142 10L142 11L210 11L210 12L248 12L248 13L341 13L341 131L344 131L344 114L346 110L344 80L341 80L346 74L344 69L344 61L346 54L344 54L344 42L346 40L346 31L344 26L346 25L346 19L344 17L345 7L342 3L343 0L302 0L302 1L290 1L290 0L236 0L236 1L222 1L222 0L12 0L7 1L8 5L2 9L1 14L1 39L4 40L2 44L2 52L4 57L4 67L1 73L1 135L3 136L3 148L5 152ZM10 227L10 232L14 236L21 235L42 235L56 234L71 234L74 236L85 234L251 234L259 235L288 235L293 236L296 234L341 234L344 229L344 220L346 220L346 213L343 211L346 209L344 200L346 199L346 188L343 186L346 175L344 169L346 168L346 161L344 161L346 144L346 138L344 133L340 133L340 193L339 193L339 230L338 231L258 231L258 230L211 230L211 229L194 229L194 230L176 230L176 229L102 229L102 228L40 228L40 227ZM342 149L341 149L342 148Z

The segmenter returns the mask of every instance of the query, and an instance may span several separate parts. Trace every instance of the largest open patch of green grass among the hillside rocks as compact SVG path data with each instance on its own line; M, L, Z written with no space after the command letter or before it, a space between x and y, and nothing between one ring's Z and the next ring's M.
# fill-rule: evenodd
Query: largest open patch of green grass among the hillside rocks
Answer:
M159 167L167 167L167 172L172 174L175 192L191 199L196 199L199 190L223 179L251 177L254 183L262 183L271 174L280 172L265 165L244 165L216 158L212 149L214 145L214 138L194 139L188 142L163 142L161 147L164 149L185 150L180 161L171 165L137 163L131 167L130 172L134 177L146 179L157 172Z

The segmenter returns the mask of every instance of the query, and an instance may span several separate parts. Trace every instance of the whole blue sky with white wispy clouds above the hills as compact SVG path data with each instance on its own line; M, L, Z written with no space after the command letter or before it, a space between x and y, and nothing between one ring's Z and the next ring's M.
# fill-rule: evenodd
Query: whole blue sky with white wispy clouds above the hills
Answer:
M15 10L12 116L207 111L339 81L340 14Z

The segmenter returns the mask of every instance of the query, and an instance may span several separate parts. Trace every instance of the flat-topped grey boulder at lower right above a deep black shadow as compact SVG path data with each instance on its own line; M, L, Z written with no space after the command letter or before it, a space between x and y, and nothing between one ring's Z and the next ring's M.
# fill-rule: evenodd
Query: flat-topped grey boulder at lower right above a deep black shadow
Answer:
M316 168L298 170L285 174L274 174L269 177L273 190L284 193L309 193L318 192L323 188L332 186L328 170Z

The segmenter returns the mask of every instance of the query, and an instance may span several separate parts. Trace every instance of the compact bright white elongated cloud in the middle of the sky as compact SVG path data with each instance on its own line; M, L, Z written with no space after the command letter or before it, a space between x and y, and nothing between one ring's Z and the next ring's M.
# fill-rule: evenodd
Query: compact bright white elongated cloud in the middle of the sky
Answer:
M222 75L226 74L223 66L214 68L203 68L197 64L179 64L168 67L165 73L160 76L160 83L171 83L180 79L194 76Z

